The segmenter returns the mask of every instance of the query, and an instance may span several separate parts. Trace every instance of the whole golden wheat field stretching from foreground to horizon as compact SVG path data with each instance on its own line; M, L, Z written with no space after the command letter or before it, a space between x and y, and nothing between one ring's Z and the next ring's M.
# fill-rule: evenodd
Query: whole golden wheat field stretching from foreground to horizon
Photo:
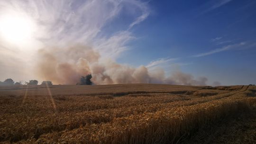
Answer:
M255 144L256 86L0 87L0 143Z

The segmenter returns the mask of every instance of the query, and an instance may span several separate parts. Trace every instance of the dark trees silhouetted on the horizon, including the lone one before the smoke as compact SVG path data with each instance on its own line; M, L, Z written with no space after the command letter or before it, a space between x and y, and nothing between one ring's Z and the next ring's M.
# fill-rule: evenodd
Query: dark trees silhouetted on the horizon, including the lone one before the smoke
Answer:
M91 82L91 74L88 74L87 76L82 76L80 78L80 82L77 83L79 85L92 85L92 82ZM38 81L37 80L30 80L30 81L13 81L12 79L6 79L5 81L0 81L0 85L6 85L6 86L9 86L9 85L37 85L38 84ZM41 83L41 85L53 85L52 81L43 81Z

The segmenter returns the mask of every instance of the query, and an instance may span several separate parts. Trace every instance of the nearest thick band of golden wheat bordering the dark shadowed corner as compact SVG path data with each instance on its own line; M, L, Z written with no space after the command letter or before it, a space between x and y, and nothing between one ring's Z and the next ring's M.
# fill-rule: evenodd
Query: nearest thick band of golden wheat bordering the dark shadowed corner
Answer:
M42 135L37 142L49 143L55 139L55 142L60 143L85 144L170 143L177 141L182 135L189 135L198 125L246 109L248 106L242 99L221 99L192 106L164 108L155 113L116 118L110 123L87 125L64 133Z

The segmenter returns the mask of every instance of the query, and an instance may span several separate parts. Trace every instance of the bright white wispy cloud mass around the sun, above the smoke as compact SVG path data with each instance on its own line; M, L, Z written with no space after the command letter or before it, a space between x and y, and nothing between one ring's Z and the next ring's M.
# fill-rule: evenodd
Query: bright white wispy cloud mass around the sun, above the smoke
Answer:
M129 29L145 20L150 11L147 3L140 0L0 0L0 15L6 13L22 13L28 16L37 25L37 31L33 34L29 46L6 45L0 38L0 67L5 73L0 78L3 79L11 74L4 66L7 62L17 59L24 65L29 63L30 67L37 59L34 53L43 47L64 48L78 43L91 46L98 50L102 57L115 60L120 53L129 49L128 42L135 38ZM132 18L127 27L104 33L104 26L115 23L123 13ZM27 47L30 47L31 52L28 53ZM13 50L20 53L9 52ZM12 59L4 59L3 54L9 54L5 57ZM19 63L12 67L18 65ZM31 69L27 71L31 72Z

